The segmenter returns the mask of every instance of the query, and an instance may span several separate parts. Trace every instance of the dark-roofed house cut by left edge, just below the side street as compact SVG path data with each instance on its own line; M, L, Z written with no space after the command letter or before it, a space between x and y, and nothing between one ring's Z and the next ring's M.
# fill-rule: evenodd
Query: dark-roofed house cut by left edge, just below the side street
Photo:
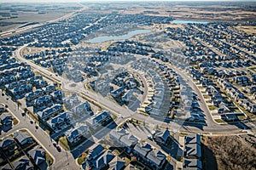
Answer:
M15 152L15 140L7 136L0 142L0 150L7 155L13 154Z

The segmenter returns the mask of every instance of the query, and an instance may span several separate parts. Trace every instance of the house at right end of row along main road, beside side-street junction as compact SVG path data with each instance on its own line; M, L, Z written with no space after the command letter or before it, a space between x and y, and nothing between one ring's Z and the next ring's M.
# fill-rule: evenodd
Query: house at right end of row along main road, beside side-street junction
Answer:
M87 119L86 124L93 130L96 130L96 128L105 126L111 121L113 121L113 119L110 116L110 111L101 111L96 116L91 116L89 119Z

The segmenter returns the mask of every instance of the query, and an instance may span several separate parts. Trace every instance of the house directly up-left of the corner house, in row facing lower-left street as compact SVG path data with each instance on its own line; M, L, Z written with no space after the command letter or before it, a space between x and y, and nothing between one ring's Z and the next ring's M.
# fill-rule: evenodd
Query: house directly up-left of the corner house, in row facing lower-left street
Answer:
M51 127L53 130L56 130L57 128L60 128L62 125L68 124L70 122L71 116L72 113L66 111L58 116L51 118L49 121L47 121L47 123L49 127Z

